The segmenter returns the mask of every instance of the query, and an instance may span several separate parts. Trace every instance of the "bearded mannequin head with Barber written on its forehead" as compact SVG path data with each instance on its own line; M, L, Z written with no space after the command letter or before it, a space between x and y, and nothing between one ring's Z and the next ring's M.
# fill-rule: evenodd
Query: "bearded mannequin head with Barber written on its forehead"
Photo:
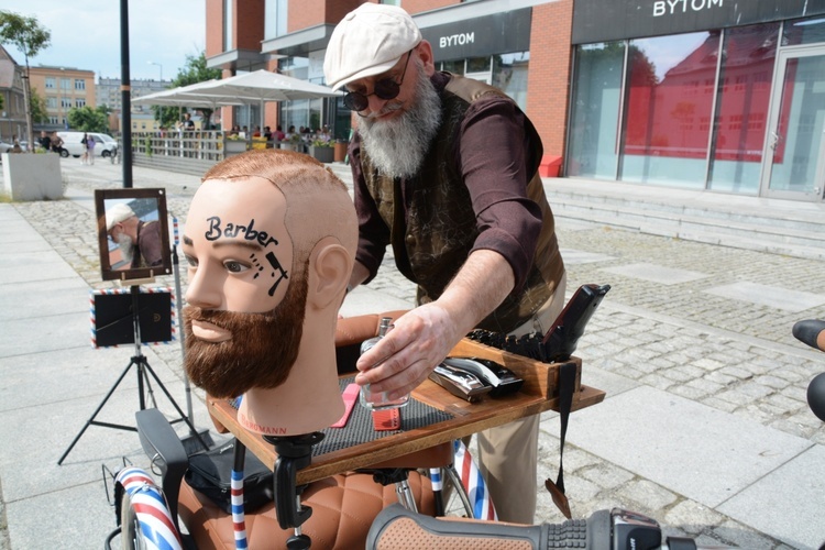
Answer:
M253 151L204 177L184 232L185 366L215 397L244 395L246 428L306 433L343 413L334 330L356 239L345 186L306 155Z

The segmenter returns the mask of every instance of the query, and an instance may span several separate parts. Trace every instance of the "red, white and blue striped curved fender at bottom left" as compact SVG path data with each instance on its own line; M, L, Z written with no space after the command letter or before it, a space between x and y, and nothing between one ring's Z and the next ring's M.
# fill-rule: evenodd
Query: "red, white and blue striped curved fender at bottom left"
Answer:
M143 536L142 548L183 550L166 499L152 476L140 468L125 468L118 472L117 481L129 494Z

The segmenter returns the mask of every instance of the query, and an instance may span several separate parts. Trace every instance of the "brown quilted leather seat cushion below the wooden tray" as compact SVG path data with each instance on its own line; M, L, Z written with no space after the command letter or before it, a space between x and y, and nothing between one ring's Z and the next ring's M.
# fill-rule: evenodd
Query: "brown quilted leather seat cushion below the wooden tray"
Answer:
M435 515L432 486L418 472L409 473L409 486L418 510ZM309 536L312 548L364 548L366 535L375 516L391 504L397 503L395 485L382 486L372 475L348 472L314 482L301 495L301 503L312 508L312 515L301 526ZM209 498L189 487L180 486L178 514L195 543L201 549L234 549L232 517ZM274 503L246 516L249 548L286 548L293 529L278 526Z

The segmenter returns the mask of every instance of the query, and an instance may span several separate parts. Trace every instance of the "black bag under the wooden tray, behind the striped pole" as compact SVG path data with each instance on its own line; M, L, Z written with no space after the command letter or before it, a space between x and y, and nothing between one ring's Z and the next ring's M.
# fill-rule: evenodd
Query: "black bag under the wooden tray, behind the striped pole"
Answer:
M232 513L232 465L234 463L235 441L201 451L189 457L189 470L186 471L186 483L199 493L209 497L228 513ZM274 474L257 457L248 452L243 466L243 508L246 514L255 512L266 503L273 502Z

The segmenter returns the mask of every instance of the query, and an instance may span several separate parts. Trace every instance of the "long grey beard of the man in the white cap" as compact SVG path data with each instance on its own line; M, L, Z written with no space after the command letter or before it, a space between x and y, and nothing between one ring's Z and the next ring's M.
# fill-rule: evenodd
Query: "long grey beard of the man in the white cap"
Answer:
M400 109L402 106L388 101L382 112ZM410 177L421 167L440 124L441 98L429 77L419 70L410 108L392 120L364 117L359 121L359 133L364 151L381 174Z

